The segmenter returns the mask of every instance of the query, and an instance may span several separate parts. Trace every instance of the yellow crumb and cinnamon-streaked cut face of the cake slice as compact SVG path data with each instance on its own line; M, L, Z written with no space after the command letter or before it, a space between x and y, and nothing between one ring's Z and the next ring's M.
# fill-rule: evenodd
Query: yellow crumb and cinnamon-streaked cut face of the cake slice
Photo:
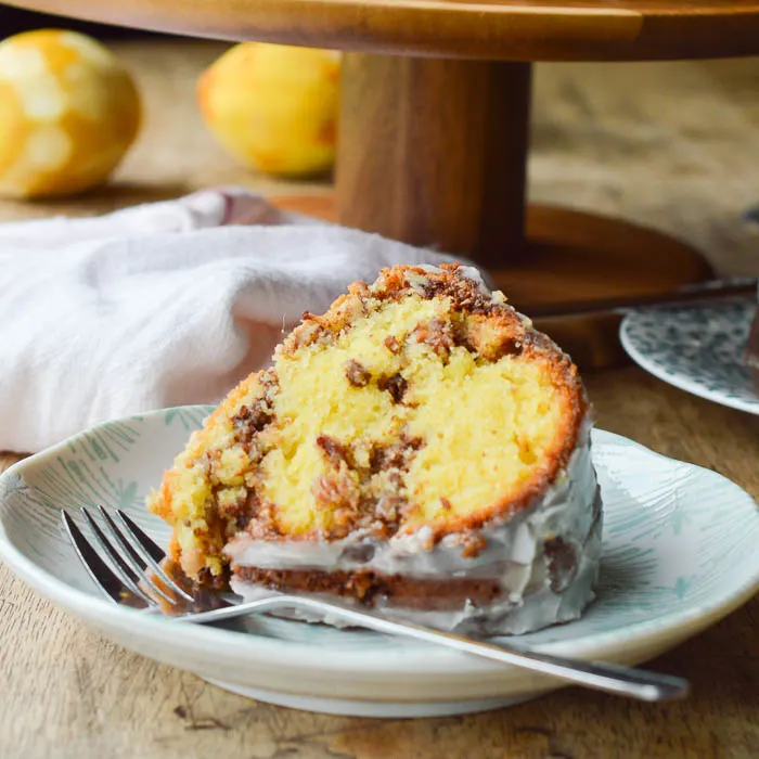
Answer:
M226 542L445 535L507 518L556 476L586 412L577 371L456 267L396 267L306 314L149 500L193 578ZM476 541L475 541L476 542ZM474 544L474 543L472 543Z

